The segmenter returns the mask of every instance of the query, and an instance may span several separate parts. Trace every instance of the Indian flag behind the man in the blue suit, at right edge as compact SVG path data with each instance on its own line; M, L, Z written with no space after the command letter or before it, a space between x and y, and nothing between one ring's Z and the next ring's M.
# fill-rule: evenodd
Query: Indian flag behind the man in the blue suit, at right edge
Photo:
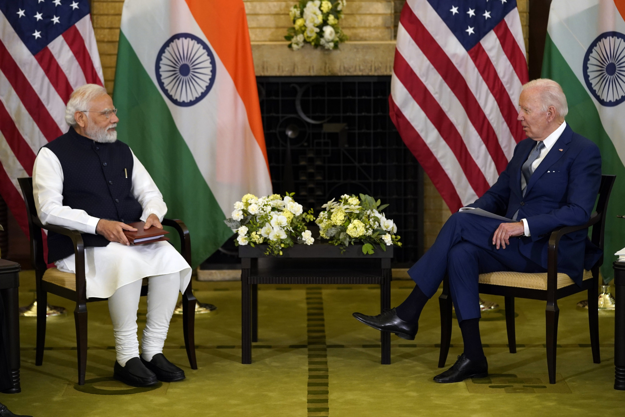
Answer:
M625 246L625 0L553 0L542 76L561 84L566 122L601 149L604 174L616 174L606 218L602 274Z

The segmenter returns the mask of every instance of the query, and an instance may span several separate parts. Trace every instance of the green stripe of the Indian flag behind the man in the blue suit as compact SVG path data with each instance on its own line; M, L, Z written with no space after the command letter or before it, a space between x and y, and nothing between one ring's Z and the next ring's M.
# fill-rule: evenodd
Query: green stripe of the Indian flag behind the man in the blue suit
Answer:
M625 179L625 166L614 149L612 139L603 129L599 112L586 88L579 82L549 34L545 41L542 77L560 83L569 104L566 123L570 124L576 133L586 136L599 146L602 173L616 175L616 183L612 188L607 209L604 263L601 267L601 273L607 281L614 275L612 261L616 260L616 256L613 254L625 246L625 219L616 218L617 214L625 214L620 209L625 206L625 188L619 186Z

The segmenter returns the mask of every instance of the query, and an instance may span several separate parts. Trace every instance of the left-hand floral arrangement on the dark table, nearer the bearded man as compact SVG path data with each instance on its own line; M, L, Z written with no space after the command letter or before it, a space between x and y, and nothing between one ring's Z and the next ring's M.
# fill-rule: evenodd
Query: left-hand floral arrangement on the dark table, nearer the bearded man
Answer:
M314 238L306 228L312 221L312 209L304 213L301 204L297 204L287 193L284 198L279 194L256 197L245 194L241 201L234 203L231 218L224 220L229 228L237 232L236 246L265 243L269 246L265 254L282 254L283 248L297 243L312 244Z

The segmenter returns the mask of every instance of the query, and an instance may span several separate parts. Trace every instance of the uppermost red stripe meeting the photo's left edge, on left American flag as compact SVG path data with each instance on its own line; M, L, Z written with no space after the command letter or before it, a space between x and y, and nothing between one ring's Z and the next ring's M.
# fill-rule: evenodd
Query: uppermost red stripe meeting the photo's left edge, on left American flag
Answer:
M24 107L26 107L32 119L39 126L44 136L46 136L46 139L51 141L61 136L63 132L61 132L52 116L46 111L42 111L46 106L44 106L36 91L34 91L2 42L0 42L0 71L9 80L17 96L24 103Z

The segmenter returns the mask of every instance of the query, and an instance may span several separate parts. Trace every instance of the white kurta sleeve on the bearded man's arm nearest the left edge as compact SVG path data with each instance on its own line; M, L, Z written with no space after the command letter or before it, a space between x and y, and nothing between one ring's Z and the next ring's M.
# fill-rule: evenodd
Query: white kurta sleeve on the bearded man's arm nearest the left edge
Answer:
M53 151L41 148L32 167L32 194L43 224L56 224L81 233L96 234L97 217L63 205L63 168Z

